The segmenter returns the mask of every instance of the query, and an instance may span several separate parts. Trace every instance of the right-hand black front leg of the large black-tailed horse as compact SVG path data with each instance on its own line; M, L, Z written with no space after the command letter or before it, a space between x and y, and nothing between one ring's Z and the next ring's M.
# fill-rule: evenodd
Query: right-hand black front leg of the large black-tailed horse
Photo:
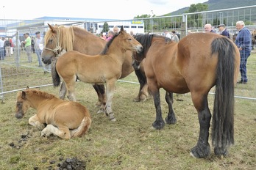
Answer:
M172 103L174 103L174 95L172 92L166 92L166 103L168 103L168 116L166 117L166 123L175 124L177 119L174 114Z

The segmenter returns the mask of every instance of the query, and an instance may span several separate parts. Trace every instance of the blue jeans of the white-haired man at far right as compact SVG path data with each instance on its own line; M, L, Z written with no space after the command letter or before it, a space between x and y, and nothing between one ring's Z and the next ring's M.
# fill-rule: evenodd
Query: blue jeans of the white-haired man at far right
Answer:
M247 74L246 74L246 64L247 64L247 59L251 55L250 51L240 51L240 73L241 73L241 81L247 82Z

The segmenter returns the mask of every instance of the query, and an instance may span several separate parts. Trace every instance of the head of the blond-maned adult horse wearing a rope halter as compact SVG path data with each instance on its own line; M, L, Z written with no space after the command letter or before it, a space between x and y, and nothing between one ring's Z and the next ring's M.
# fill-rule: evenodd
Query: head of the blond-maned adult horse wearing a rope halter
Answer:
M60 30L58 26L48 24L49 30L46 32L45 45L43 49L42 61L44 64L51 64L51 59L57 56L60 51Z

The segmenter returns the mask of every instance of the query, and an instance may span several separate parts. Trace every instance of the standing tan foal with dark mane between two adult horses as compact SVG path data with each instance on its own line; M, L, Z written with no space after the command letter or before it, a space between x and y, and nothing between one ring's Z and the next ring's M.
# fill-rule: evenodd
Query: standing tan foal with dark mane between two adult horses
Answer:
M127 56L127 51L142 51L142 45L123 27L104 48L101 54L90 56L77 51L68 51L57 59L53 72L54 86L60 85L60 77L65 82L68 90L68 99L76 100L74 86L76 79L90 84L106 84L107 103L102 107L110 120L115 121L112 111L113 91L115 82L121 77L122 65ZM65 65L65 67L63 67Z

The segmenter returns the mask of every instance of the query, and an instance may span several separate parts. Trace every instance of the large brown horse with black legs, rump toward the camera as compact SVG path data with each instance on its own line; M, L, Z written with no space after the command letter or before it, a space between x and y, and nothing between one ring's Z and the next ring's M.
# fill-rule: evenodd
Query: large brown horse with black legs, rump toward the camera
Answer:
M141 61L137 55L135 59ZM234 88L239 65L240 55L234 42L218 34L190 34L178 43L164 39L153 42L143 64L154 97L156 120L153 127L162 129L165 125L160 107L160 88L169 92L166 93L168 124L177 121L172 108L172 93L191 92L200 125L199 140L191 149L191 155L195 158L207 157L210 155L208 136L211 119L207 95L216 86L212 142L216 155L227 155L228 147L234 143Z

